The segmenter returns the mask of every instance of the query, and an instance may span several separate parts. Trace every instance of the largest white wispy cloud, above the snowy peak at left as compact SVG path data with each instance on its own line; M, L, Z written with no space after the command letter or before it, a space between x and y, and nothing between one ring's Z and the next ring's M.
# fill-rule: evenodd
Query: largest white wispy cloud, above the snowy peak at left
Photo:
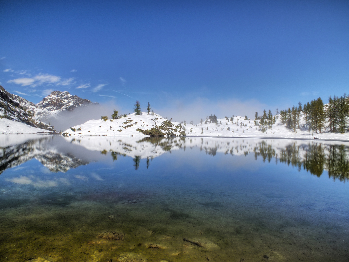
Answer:
M62 85L67 86L73 84L74 78L62 79L60 76L54 76L49 74L39 73L35 77L31 78L16 78L8 80L7 83L13 83L22 86L42 86L42 85Z

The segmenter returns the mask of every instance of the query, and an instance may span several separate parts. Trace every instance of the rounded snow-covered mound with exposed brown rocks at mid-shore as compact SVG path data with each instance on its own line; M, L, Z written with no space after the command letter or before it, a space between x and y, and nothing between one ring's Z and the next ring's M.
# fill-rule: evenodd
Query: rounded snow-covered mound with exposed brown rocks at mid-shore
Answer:
M63 135L102 136L185 136L181 123L171 122L157 114L129 114L119 119L89 120L71 127Z

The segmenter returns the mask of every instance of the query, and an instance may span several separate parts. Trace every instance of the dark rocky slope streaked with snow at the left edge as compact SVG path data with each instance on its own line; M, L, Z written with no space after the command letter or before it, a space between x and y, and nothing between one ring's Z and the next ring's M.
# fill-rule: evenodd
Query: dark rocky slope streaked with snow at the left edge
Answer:
M6 118L12 121L25 123L32 127L54 131L52 126L40 121L35 117L33 110L28 108L28 106L32 107L34 104L24 100L24 98L18 97L18 95L10 94L0 86L0 118ZM22 103L27 106L23 106Z

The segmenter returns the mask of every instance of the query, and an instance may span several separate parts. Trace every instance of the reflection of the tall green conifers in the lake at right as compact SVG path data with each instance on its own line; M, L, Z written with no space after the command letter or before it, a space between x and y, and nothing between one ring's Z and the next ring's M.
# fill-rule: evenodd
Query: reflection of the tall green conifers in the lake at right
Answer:
M305 153L303 153L305 151ZM326 154L328 151L328 154ZM310 174L320 177L324 170L328 176L340 181L349 180L349 147L344 145L324 145L319 143L308 143L297 145L292 143L280 150L280 155L275 154L271 144L265 141L259 147L254 148L254 156L262 156L263 162L268 162L274 157L277 161L297 167L298 171L306 169Z

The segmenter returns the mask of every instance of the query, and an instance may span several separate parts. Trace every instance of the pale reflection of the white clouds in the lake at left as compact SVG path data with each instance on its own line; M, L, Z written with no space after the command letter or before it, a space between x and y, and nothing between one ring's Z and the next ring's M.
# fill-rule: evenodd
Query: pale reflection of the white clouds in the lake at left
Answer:
M7 182L12 182L15 184L21 184L21 185L32 185L35 187L54 187L58 186L60 183L71 185L69 180L66 178L54 178L54 179L46 179L41 180L40 178L35 178L34 176L20 176L20 177L14 177L14 178L5 178Z

